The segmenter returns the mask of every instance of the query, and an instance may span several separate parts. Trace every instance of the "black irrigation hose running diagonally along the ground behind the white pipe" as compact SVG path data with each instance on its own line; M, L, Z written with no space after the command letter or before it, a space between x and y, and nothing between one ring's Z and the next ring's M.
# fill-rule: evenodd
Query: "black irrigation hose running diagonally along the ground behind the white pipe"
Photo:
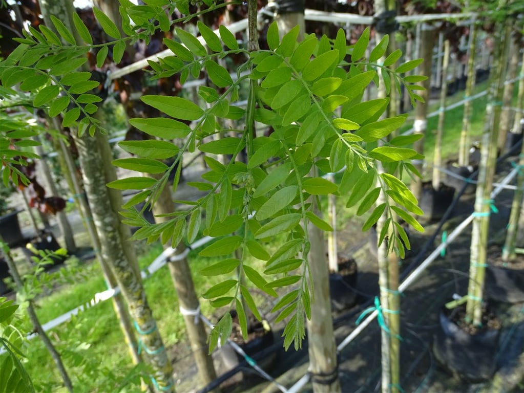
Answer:
M504 161L506 160L513 152L514 150L516 150L517 148L520 147L520 144L522 143L522 140L520 140L519 142L517 142L516 144L514 144L510 149L509 151L504 154L504 155L501 155L498 159L497 159L497 165L501 162L501 161ZM469 177L468 179L469 180L473 180L478 174L478 170L476 170L475 172L473 172ZM445 222L447 221L447 219L450 217L451 215L451 212L453 211L453 208L455 207L455 205L457 204L457 202L459 201L460 197L462 196L462 194L464 194L467 186L469 185L470 183L468 183L467 181L464 182L464 186L460 189L459 193L454 197L451 205L447 208L446 212L444 213L444 215L442 216L440 222L439 222L439 225L438 227L435 229L435 231L433 232L433 234L431 235L430 239L428 239L424 245L422 246L422 249L419 251L419 253L413 258L413 261L408 265L408 267L402 272L402 274L400 275L400 279L404 279L406 278L406 276L411 273L411 271L414 270L414 268L416 268L420 262L422 262L423 258L424 258L424 255L425 253L428 251L430 245L433 244L433 242L435 241L437 235L439 234L439 232L441 231L442 227L444 226ZM365 310L366 308L370 307L371 305L373 304L373 297L369 298L368 300L366 300L363 304L359 305L358 307L356 307L355 309L345 313L344 315L341 315L340 317L337 317L335 319L333 319L333 327L336 328L338 327L339 325L347 322L347 320L349 319L352 319L354 318L358 313L361 313L363 310ZM414 333L414 332L413 332ZM304 338L304 341L307 341L307 337ZM258 353L256 353L255 355L252 356L252 358L257 361L261 358L264 358L266 355L274 352L278 347L280 347L282 345L282 340L278 340L277 342L275 342L274 344L268 346L266 349L264 349L263 351L260 351ZM431 351L429 351L430 353L430 356L431 356ZM415 367L417 367L417 365L422 361L422 358L417 358L411 365L411 369L414 369ZM203 387L202 389L198 390L197 393L208 393L209 391L212 391L213 389L216 389L217 387L219 387L222 383L224 383L227 379L233 377L234 375L238 374L239 372L241 372L243 369L245 369L246 367L248 367L248 363L247 361L244 359L242 360L242 362L240 362L237 366L235 366L234 368L228 370L227 372L225 372L224 374L220 375L219 377L217 377L216 379L214 379L213 381L211 381L208 385L206 385L205 387ZM430 365L430 370L431 368L434 367L433 365L433 359L432 359L432 356L431 356L431 365Z

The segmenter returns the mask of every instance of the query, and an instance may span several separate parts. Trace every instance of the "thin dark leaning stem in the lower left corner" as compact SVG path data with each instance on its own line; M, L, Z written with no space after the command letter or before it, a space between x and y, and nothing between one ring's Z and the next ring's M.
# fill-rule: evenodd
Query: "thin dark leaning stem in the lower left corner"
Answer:
M13 280L16 284L16 287L18 290L21 290L24 288L24 283L22 279L20 278L20 274L18 273L18 269L16 268L16 264L13 261L13 258L11 257L11 253L8 251L5 253L5 260L7 262L7 266L9 267L9 272L11 276L13 277ZM60 376L62 377L64 386L69 390L70 392L73 391L73 384L71 383L71 379L69 378L69 375L67 373L67 370L65 369L65 366L62 362L62 358L60 357L60 354L54 347L51 340L49 340L48 335L43 330L42 325L40 324L40 321L38 320L38 317L35 312L35 306L33 304L32 299L29 299L27 302L27 313L29 315L29 319L31 320L31 323L33 325L33 328L35 332L38 333L40 336L40 339L43 342L43 345L46 347L46 349L49 351L53 362L57 365L58 371L60 373Z

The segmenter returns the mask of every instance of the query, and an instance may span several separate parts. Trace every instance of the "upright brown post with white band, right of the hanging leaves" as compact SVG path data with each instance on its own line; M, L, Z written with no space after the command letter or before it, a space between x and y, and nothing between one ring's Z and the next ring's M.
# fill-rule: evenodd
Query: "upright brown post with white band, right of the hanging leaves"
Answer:
M420 52L419 55L424 59L424 62L420 65L420 74L428 76L428 79L421 82L421 85L425 90L419 92L419 95L424 99L424 102L417 103L415 108L415 121L413 123L414 134L424 135L428 128L428 105L429 105L429 88L431 78L431 59L433 57L433 42L434 42L434 29L428 24L423 24L421 28L421 39L420 39ZM413 143L413 149L420 154L424 154L424 138L419 139ZM414 161L414 167L422 173L423 162ZM422 179L414 178L411 182L411 192L419 199L422 192Z

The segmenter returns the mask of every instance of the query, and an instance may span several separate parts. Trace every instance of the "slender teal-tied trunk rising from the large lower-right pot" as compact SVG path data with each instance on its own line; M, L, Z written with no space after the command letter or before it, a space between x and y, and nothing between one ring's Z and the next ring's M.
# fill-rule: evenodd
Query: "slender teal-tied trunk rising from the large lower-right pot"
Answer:
M492 208L490 194L497 159L497 140L500 118L500 99L504 89L505 65L509 44L510 21L496 30L495 42L499 42L490 74L488 104L481 145L481 163L475 195L475 212L471 235L470 282L467 291L466 321L480 325L482 299L486 272L486 253L489 232L489 215ZM497 116L497 113L499 114Z

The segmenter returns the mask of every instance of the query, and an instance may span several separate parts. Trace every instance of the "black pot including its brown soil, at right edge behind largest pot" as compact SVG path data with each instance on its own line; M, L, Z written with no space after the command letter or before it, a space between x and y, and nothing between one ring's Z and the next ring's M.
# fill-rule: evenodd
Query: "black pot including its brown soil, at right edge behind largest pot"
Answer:
M519 303L524 301L524 255L504 263L500 248L488 250L485 292L488 299Z

